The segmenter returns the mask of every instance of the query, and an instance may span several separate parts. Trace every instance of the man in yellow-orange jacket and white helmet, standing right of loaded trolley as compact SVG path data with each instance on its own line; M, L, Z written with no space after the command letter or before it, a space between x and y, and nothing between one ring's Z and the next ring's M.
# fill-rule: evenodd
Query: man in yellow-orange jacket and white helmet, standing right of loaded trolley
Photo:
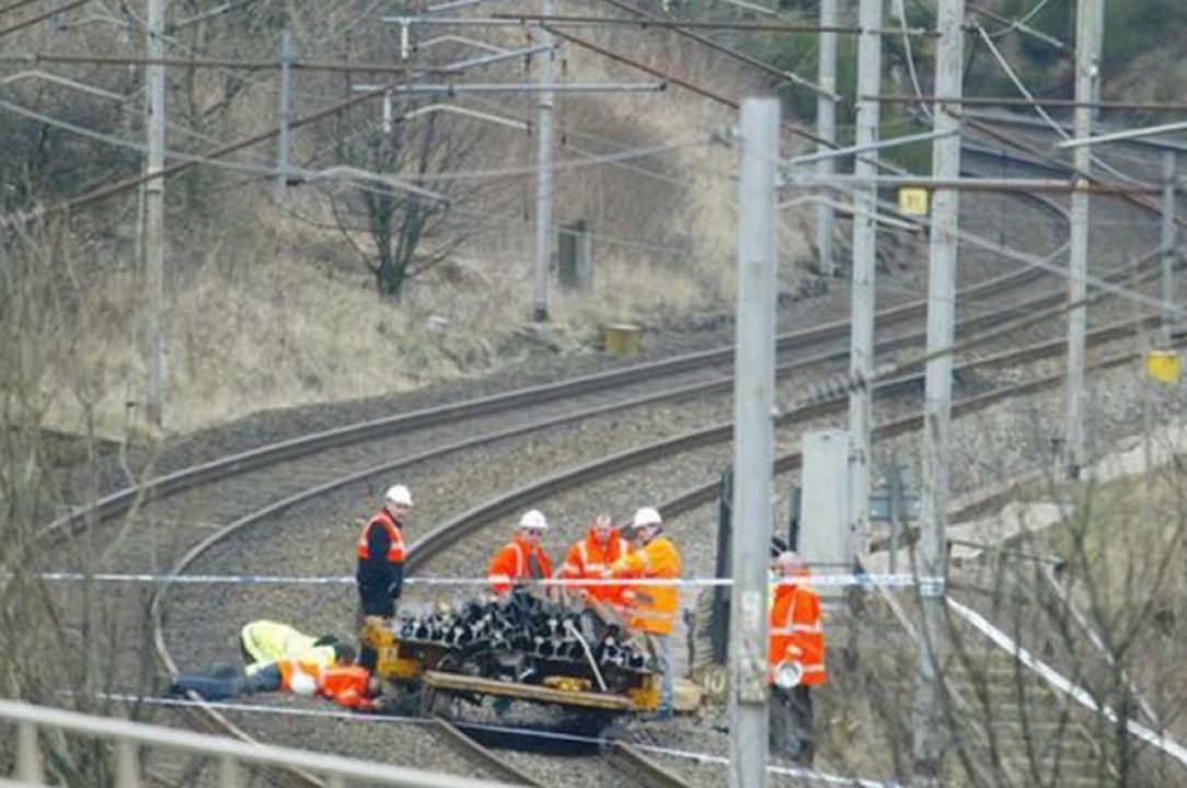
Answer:
M635 541L635 551L610 566L610 576L637 578L622 592L629 615L629 628L642 633L661 673L660 705L656 716L672 716L672 627L680 609L680 589L674 584L648 584L649 579L678 580L680 552L664 534L664 520L652 507L635 513L626 534Z

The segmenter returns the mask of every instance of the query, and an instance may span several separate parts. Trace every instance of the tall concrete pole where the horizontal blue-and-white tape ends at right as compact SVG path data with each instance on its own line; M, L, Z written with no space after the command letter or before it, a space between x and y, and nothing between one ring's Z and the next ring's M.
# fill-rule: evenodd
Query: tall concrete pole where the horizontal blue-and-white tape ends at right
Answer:
M937 23L935 95L937 132L960 128L960 106L942 100L960 99L964 66L964 0L940 0ZM960 177L960 136L938 139L932 147L937 178ZM952 344L956 332L957 252L960 192L937 190L932 198L931 262L927 277L927 352ZM947 574L948 425L952 414L952 356L931 356L923 383L923 478L920 500L920 541L915 567L920 578L922 612L915 688L914 761L919 786L939 786L944 779L944 735L940 727L940 668L947 638L944 619L944 578Z

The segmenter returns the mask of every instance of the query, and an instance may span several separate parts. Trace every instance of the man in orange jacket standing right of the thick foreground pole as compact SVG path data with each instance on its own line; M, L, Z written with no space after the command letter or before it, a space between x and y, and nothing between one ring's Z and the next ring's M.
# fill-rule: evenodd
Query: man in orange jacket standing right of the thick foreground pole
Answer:
M802 578L808 573L798 553L775 559L780 579L768 621L770 748L812 765L812 690L829 679L824 653L820 598Z

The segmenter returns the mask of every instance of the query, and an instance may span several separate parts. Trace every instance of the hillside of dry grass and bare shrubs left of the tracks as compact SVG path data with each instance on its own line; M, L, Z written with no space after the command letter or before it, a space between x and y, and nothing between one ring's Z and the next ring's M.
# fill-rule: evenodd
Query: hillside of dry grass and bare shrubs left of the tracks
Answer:
M196 1L174 2L171 8L172 24L209 11ZM310 61L399 62L398 34L379 24L376 14L366 2L331 7L261 0L179 26L167 55L278 58L281 33L288 28L298 55ZM64 15L63 24L32 27L21 37L21 49L141 56L141 20L132 15L125 24L125 32L113 32L113 25L88 21L82 14L77 20ZM436 32L418 32L413 42ZM519 28L466 32L489 45L528 43ZM642 57L658 68L724 95L741 96L762 87L754 75L690 42L655 31L645 36L652 45ZM636 53L643 40L634 31L594 32L586 38ZM431 65L482 53L475 46L445 43L415 57ZM7 71L15 74L18 68ZM538 58L518 58L458 81L525 82L538 69ZM135 147L144 140L139 66L72 64L40 70L106 94L40 77L5 85L2 97L26 113L0 112L6 139L0 179L8 214L56 206L134 176L141 166ZM294 74L294 117L350 95L342 72ZM557 74L561 82L656 81L572 45L560 50ZM349 80L362 84L381 77L360 72ZM201 154L275 128L278 84L275 71L171 66L170 151ZM595 266L590 292L561 292L553 279L552 322L541 331L528 320L534 99L459 94L393 103L398 115L450 104L527 126L515 129L426 110L398 121L391 139L385 139L376 100L293 133L292 160L306 171L350 166L380 174L419 172L430 176L420 182L424 188L453 201L450 210L431 217L437 223L418 239L411 278L394 297L377 292L379 249L368 216L373 204L393 196L389 190L318 179L291 186L280 202L272 178L249 169L274 164L271 140L228 157L237 169L202 164L167 179L167 431L261 408L376 395L472 375L528 352L588 350L597 347L598 326L605 322L671 325L700 311L721 311L732 298L736 153L711 141L735 122L732 110L677 89L558 94L556 150L561 169L556 173L554 223L589 223ZM108 136L89 139L62 123ZM430 151L425 160L392 166L393 160L383 158L395 147L395 138L418 153L426 128L436 136L432 148L425 148ZM659 151L570 167L590 155L652 147ZM446 173L463 174L449 180ZM434 174L445 179L433 180ZM393 211L398 225L410 210L424 209L425 203L413 202ZM30 223L27 231L6 239L7 254L25 260L23 275L39 279L19 287L9 282L7 297L17 297L20 287L38 293L39 319L47 320L45 312L52 312L58 326L52 333L33 325L14 326L30 337L30 349L40 361L36 364L44 398L39 409L50 424L77 430L90 421L113 436L142 427L146 301L138 216L138 190L132 189L78 208L69 221ZM806 259L802 233L793 216L787 220L787 259ZM37 265L39 260L47 265ZM785 266L785 273L794 279L794 266Z

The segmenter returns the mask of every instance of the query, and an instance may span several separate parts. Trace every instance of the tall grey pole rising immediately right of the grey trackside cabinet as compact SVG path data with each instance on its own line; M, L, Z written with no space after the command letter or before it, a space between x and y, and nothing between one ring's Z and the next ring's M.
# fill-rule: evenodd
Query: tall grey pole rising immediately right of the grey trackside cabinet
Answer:
M882 83L882 0L862 0L857 40L857 95L869 99L857 102L857 147L878 141L878 102ZM872 180L878 171L872 155L856 159L853 173L871 183L853 190L853 304L849 337L849 371L853 379L869 380L874 373L874 279L877 268L877 188ZM870 520L870 422L874 396L869 387L856 387L849 395L849 433L853 438L850 474L852 521L848 535L848 553L856 557L857 545L865 536Z

